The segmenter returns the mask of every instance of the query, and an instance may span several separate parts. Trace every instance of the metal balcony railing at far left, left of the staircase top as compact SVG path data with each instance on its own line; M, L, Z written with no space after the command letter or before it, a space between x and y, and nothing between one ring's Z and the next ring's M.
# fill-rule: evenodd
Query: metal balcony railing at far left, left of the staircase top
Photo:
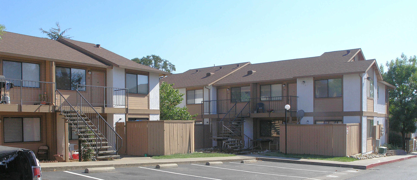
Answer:
M20 105L52 105L55 102L55 82L4 80L5 82L0 82L2 102Z

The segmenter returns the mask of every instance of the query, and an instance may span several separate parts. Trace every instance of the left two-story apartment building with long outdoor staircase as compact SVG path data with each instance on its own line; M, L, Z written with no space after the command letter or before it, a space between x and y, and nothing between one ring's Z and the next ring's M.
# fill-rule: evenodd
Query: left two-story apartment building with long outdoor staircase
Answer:
M53 159L81 140L97 159L118 157L122 139L115 123L159 120L159 77L169 74L100 45L6 32L0 40L0 145L35 154L48 146Z

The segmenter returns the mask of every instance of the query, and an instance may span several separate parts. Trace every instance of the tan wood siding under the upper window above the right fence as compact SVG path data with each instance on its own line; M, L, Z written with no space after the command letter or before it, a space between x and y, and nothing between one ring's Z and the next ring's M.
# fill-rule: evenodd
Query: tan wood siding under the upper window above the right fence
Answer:
M343 111L343 97L314 98L314 112Z

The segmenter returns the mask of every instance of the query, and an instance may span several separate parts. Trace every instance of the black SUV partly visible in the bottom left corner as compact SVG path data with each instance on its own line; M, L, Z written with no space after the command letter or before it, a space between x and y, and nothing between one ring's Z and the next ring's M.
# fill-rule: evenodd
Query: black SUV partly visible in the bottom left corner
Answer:
M42 180L39 160L31 150L0 146L1 180Z

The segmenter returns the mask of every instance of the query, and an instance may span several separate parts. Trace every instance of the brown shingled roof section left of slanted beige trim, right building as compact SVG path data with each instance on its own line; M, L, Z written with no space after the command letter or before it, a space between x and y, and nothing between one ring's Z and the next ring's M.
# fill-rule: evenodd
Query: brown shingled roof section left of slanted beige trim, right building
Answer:
M238 64L240 67L237 67ZM162 78L161 81L174 84L174 88L207 86L217 82L232 72L244 68L249 64L249 62L242 62L230 65L219 65L214 67L191 69L183 73L169 75ZM220 69L220 67L222 67L222 69ZM198 70L198 72L196 72L196 70ZM214 74L207 76L207 73Z

